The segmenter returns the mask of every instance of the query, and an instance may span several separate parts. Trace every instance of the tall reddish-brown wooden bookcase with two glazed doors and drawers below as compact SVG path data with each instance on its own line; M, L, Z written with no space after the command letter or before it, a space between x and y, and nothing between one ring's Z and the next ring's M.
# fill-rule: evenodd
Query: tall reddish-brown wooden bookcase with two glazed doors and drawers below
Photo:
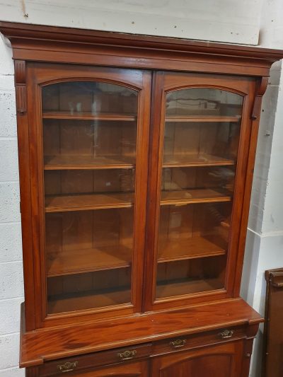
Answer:
M26 375L248 376L261 98L282 51L0 23L15 59Z

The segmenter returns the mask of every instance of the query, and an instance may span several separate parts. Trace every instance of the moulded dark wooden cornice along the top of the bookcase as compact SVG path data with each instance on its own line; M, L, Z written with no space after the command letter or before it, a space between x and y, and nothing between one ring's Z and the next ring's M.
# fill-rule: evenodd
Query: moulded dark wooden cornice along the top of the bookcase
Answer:
M33 44L45 45L46 42L75 43L79 45L103 45L109 47L129 47L142 50L170 52L190 52L222 57L238 57L276 62L283 58L283 50L273 50L243 45L230 45L215 42L200 42L173 37L153 37L126 33L113 33L78 28L62 28L25 23L0 21L0 32L17 47Z

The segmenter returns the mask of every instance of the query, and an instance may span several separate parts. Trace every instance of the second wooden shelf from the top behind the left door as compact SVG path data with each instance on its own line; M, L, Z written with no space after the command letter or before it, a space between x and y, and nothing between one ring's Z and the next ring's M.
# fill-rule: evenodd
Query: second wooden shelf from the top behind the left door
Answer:
M45 156L45 170L131 169L134 157Z

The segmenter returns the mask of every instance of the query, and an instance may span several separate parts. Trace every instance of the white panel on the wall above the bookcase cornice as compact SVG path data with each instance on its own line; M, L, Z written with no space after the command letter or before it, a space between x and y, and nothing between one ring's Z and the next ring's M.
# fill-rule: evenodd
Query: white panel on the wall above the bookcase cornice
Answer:
M258 44L262 0L6 0L3 21Z

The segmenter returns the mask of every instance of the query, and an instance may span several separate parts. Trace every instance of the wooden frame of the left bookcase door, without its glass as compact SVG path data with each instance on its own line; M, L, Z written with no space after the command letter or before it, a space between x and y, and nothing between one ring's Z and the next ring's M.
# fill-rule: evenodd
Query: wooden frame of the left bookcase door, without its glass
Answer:
M144 265L144 228L146 216L147 166L149 158L149 105L151 94L151 72L134 69L113 69L96 66L64 66L62 64L29 63L27 70L28 93L28 141L25 153L29 156L30 204L33 253L24 253L25 271L33 269L33 285L25 287L25 313L28 330L38 327L66 325L79 320L107 318L109 316L129 315L141 311L142 275ZM131 76L132 75L132 79ZM128 77L129 76L129 77ZM120 304L109 308L47 315L45 279L45 216L43 195L43 157L42 157L42 110L41 86L62 81L106 81L127 86L139 91L139 117L137 122L137 166L136 195L134 201L134 253L132 268L132 304ZM19 135L18 143L23 148L25 139ZM20 166L21 169L21 166ZM23 174L21 173L21 178ZM25 182L24 182L25 183ZM28 190L24 183L22 190ZM30 224L23 221L23 233ZM26 279L25 279L26 280ZM34 295L33 295L34 291ZM30 313L30 307L33 311ZM31 319L30 315L34 315Z

